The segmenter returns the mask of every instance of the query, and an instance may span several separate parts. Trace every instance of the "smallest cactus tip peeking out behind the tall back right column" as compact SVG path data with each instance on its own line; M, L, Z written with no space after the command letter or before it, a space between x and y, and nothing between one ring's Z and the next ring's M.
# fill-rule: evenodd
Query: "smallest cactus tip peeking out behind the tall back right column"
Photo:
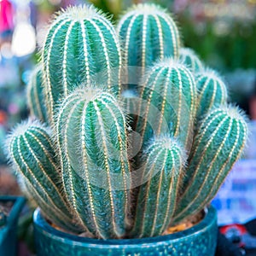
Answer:
M192 73L200 72L203 69L203 64L193 49L181 48L179 50L179 60L187 65Z

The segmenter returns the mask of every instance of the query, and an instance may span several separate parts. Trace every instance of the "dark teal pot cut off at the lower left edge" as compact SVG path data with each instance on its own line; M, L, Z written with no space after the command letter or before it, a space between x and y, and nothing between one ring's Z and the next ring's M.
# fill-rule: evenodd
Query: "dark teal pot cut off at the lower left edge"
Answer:
M25 198L21 196L0 196L1 202L13 202L8 217L2 218L0 226L0 255L15 256L17 255L17 223L20 212L25 205Z

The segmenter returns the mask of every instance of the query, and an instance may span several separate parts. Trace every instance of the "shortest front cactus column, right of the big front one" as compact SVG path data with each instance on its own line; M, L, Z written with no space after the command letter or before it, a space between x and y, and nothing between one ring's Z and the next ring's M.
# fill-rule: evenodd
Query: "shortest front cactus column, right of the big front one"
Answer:
M183 148L170 137L157 138L143 154L143 180L137 196L132 237L160 236L176 207Z

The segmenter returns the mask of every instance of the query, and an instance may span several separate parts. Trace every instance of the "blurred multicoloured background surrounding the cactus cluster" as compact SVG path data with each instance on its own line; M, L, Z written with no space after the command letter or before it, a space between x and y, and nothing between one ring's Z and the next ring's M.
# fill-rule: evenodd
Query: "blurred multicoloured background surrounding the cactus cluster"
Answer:
M115 22L131 3L149 1L0 0L0 195L20 193L15 178L7 172L3 141L11 127L28 114L26 84L39 59L47 24L56 10L88 2L111 14ZM195 49L208 66L223 75L230 102L236 102L249 116L252 132L244 160L234 167L236 172L213 203L220 224L256 218L252 197L256 192L256 0L150 2L173 13L184 46ZM230 210L233 215L227 219Z

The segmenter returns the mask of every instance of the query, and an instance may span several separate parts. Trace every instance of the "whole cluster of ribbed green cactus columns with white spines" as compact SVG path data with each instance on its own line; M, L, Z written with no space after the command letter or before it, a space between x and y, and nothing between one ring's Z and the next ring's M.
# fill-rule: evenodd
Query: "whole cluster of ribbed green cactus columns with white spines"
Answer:
M117 30L87 5L53 20L27 90L33 117L7 148L26 193L62 230L160 236L201 212L241 156L243 113L179 38L153 4L133 6Z

